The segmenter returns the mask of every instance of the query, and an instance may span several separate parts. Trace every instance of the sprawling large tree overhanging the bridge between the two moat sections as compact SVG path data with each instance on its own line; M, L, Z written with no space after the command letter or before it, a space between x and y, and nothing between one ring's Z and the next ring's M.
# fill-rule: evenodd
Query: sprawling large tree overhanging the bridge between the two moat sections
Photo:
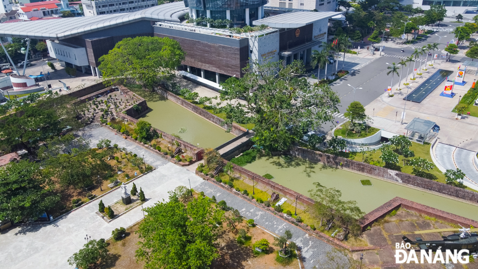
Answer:
M304 74L301 61L249 64L242 78L222 84L220 99L233 111L228 121L254 123L253 141L266 152L288 149L308 129L333 121L332 114L339 111L337 93L328 84L309 83Z

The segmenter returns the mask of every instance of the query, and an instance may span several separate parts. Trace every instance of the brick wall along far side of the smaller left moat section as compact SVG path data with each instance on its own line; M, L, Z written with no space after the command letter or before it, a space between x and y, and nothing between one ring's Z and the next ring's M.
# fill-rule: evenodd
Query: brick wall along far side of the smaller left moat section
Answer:
M213 115L213 114L209 113L205 109L202 109L202 108L200 108L199 106L197 106L193 103L189 103L188 101L180 98L179 96L177 96L176 94L174 94L172 92L169 92L169 91L167 91L165 89L162 89L162 88L156 88L155 90L159 94L161 94L162 96L166 97L167 99L169 99L169 100L173 101L174 103L177 103L180 106L186 108L187 110L199 115L201 118L206 119L206 120L212 122L213 124L218 125L219 127L221 127L224 130L227 130L229 127L231 127L231 133L235 136L241 135L246 131L245 128L243 128L242 126L240 126L238 124L232 124L232 126L228 126L227 124L224 124L223 119L219 118L216 115Z

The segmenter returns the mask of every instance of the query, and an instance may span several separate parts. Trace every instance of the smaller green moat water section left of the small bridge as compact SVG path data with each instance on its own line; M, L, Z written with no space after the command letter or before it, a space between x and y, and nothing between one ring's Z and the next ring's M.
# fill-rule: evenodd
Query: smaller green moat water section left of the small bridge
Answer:
M172 101L148 102L148 106L151 111L141 119L161 131L178 134L182 140L193 145L199 143L203 148L215 148L235 137ZM181 128L186 132L180 133Z

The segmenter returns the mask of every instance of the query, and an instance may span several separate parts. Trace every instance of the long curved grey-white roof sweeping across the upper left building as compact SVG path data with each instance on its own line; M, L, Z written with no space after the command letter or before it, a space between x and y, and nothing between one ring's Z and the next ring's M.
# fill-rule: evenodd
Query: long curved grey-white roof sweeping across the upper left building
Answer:
M135 21L180 22L188 8L184 2L173 2L131 13L63 18L60 20L0 23L0 36L61 40L128 24Z

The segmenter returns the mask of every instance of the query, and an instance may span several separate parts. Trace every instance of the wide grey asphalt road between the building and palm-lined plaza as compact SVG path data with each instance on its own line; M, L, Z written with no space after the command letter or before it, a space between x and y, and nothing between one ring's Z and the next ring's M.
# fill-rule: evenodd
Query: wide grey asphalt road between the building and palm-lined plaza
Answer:
M456 27L458 25L463 25L458 23L447 23L447 24L448 26L444 26L446 24L442 23L442 25L440 26ZM442 37L441 40L436 34ZM386 88L390 86L390 83L392 80L391 74L387 75L387 71L388 71L387 62L388 63L400 62L401 59L399 57L408 57L415 51L414 47L426 46L428 43L434 43L434 42L438 43L438 41L440 41L438 46L438 51L442 51L446 47L447 42L449 42L453 38L454 38L454 34L450 34L448 32L435 32L432 35L429 35L428 37L420 40L419 42L416 42L414 44L411 44L408 47L403 48L405 50L404 52L401 52L401 48L385 47L384 51L382 52L382 55L384 56L369 63L365 67L359 70L356 70L355 72L345 76L342 80L339 80L338 82L333 83L331 85L332 89L334 89L339 94L339 97L340 97L339 113L334 114L335 124L332 124L332 123L324 124L321 128L321 131L328 132L335 127L337 122L341 123L345 121L346 119L344 118L343 113L346 112L348 105L352 103L354 100L359 101L365 106L371 103L376 98L378 98L380 94L385 93ZM361 45L361 46L364 46L364 45ZM370 46L370 44L368 44L368 46ZM437 51L435 53L441 54ZM423 56L423 60L425 59L425 56L426 55ZM471 59L467 57L452 55L449 61L464 62L466 60L471 60ZM418 63L423 64L423 62L417 62L416 68L418 68L417 67ZM412 63L412 66L410 67L410 73L408 73L408 70L409 70L408 66L406 66L403 70L402 78L405 78L405 76L412 73L413 63ZM401 72L402 72L401 69L398 70L398 73L401 73ZM393 77L393 84L398 83L398 79L399 79L398 76L395 75ZM362 88L362 89L357 89L357 92L355 93L355 96L354 96L354 89L351 86L348 86L348 84L356 88Z

